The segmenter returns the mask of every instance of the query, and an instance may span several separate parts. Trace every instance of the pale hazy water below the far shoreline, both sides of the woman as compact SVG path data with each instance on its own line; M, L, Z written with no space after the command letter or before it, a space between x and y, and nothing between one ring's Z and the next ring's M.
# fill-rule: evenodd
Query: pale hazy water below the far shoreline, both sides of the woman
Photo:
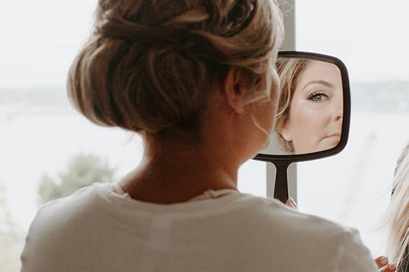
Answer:
M1 110L0 182L6 189L12 220L24 233L39 208L41 176L65 169L74 154L107 158L117 167L117 178L141 158L139 137L92 125L68 106L47 110L22 107L13 115L4 114L10 113L10 106ZM383 253L384 235L372 230L388 205L393 169L409 139L408 120L408 113L355 113L349 143L341 154L299 163L299 209L359 229L372 253ZM249 162L239 174L241 191L265 196L263 163Z

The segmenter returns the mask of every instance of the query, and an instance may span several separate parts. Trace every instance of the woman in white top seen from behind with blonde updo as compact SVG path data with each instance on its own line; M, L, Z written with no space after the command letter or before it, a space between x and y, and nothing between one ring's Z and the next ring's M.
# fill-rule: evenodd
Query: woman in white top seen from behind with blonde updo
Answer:
M275 125L282 39L270 0L99 0L68 95L143 159L43 205L22 271L375 271L357 231L237 191Z

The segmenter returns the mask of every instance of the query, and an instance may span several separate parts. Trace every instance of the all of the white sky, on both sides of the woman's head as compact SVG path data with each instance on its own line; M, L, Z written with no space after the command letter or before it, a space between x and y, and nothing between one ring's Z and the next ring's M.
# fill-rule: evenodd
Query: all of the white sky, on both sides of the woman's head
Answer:
M1 3L0 87L63 87L97 0ZM409 1L296 0L297 50L332 54L350 79L409 79Z

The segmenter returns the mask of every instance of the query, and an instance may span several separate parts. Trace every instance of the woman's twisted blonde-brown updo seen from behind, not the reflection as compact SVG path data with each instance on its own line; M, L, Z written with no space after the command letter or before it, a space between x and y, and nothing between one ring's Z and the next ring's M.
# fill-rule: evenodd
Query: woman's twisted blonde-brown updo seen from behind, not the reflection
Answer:
M99 0L68 96L99 125L192 129L230 67L245 76L249 101L269 96L258 86L282 36L272 0Z

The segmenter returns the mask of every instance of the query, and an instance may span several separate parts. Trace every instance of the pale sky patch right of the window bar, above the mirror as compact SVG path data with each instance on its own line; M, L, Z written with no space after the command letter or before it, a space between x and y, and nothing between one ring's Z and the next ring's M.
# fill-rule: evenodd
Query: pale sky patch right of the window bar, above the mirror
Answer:
M409 80L409 1L297 0L297 50L332 54L352 81Z

